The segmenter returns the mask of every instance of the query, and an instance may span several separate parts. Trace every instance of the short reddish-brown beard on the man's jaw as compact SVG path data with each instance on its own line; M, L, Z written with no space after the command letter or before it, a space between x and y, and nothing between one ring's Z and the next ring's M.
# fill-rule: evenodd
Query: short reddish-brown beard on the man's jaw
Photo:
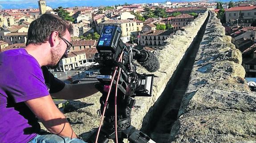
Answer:
M48 65L50 68L55 69L59 66L61 59L66 57L66 52L61 55L61 43L59 43L55 48L51 49L51 62Z

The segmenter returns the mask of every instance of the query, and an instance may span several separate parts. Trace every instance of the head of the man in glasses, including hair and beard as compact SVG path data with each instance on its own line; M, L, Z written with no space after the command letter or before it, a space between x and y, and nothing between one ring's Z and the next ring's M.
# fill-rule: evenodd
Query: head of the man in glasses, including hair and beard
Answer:
M56 67L61 58L67 57L66 49L70 47L72 25L57 15L43 14L34 20L28 29L26 45L49 43L51 56L47 66Z

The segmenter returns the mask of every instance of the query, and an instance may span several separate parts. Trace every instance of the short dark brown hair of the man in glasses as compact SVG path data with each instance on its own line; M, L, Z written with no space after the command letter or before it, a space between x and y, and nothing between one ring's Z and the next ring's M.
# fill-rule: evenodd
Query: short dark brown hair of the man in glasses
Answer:
M70 35L73 34L72 25L61 19L61 17L53 14L43 14L30 23L26 45L31 43L41 45L41 43L49 40L53 31L58 31L59 36L64 36L66 30L69 31Z

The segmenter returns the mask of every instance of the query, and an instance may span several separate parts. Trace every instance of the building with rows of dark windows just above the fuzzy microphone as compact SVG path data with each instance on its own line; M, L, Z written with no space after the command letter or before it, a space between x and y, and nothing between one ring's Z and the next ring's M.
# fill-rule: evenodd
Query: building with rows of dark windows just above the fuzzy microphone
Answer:
M140 35L140 45L158 48L173 33L170 30L150 30Z

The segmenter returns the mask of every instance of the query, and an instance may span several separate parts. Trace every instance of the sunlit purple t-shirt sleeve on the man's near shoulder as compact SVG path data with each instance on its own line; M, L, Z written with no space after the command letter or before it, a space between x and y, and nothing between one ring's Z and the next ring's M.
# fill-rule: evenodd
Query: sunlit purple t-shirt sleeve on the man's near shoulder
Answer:
M31 56L16 56L16 65L10 70L10 94L16 103L49 95L40 65Z

